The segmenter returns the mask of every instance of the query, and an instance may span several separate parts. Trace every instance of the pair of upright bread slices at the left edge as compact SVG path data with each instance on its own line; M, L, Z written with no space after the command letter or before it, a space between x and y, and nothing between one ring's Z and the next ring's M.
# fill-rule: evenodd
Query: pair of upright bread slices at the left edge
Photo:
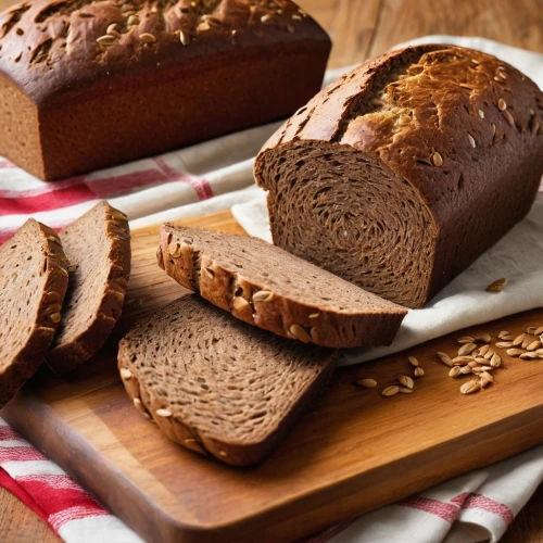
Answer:
M64 375L102 346L129 272L128 222L108 202L59 233L28 219L0 247L0 407L43 361Z

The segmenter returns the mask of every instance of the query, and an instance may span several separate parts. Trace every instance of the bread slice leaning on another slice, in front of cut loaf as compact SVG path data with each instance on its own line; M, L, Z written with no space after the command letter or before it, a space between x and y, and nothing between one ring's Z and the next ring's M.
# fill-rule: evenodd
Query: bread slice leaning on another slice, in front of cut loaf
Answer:
M245 323L323 346L387 345L407 310L248 236L161 228L159 265Z

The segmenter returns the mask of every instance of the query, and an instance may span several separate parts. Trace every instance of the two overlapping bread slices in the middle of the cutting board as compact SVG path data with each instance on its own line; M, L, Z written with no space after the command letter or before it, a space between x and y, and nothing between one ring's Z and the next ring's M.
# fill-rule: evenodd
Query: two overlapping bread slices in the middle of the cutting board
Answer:
M331 376L338 348L389 344L406 310L247 236L163 225L186 295L137 324L118 366L135 406L181 445L263 460Z

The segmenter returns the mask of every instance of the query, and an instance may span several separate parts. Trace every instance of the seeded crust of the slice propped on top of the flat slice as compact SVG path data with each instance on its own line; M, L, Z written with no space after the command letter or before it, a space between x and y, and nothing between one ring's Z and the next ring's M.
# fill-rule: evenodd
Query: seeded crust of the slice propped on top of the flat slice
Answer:
M291 327L298 325L307 331L307 342L311 340L321 346L336 349L390 344L407 314L405 308L392 304L381 313L337 312L277 293L274 293L270 301L254 301L254 293L267 290L268 287L244 276L239 269L219 265L206 253L205 247L199 245L198 240L194 240L194 244L179 243L179 254L172 255L171 237L182 237L184 231L184 228L168 224L161 228L157 262L166 274L240 320L278 336L301 339L291 333ZM266 243L263 242L262 245L265 258ZM236 295L238 288L242 290L240 295ZM317 318L312 317L316 314Z

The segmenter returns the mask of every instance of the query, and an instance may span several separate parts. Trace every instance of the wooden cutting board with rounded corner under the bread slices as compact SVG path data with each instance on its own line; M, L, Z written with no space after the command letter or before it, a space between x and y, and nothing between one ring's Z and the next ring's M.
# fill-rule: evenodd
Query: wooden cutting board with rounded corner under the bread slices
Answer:
M228 212L187 223L242 232ZM293 540L543 442L543 361L504 355L492 387L460 395L462 381L435 356L458 349L456 332L339 369L258 467L229 468L185 451L139 414L116 371L115 344L130 323L186 292L156 266L156 242L157 228L134 232L115 338L70 380L42 368L0 413L147 540ZM538 310L470 331L515 336L541 324ZM412 375L407 355L425 376L413 394L381 396L399 374ZM353 386L363 377L378 389Z

